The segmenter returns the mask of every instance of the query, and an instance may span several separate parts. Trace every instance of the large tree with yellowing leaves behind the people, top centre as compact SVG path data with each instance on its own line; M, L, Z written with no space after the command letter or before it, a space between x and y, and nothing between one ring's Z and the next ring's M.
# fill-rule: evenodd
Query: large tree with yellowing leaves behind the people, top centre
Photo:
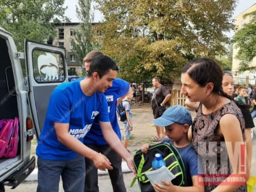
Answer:
M226 54L224 32L234 27L235 0L96 2L105 17L97 41L118 62L120 76L133 82L172 80L194 57Z

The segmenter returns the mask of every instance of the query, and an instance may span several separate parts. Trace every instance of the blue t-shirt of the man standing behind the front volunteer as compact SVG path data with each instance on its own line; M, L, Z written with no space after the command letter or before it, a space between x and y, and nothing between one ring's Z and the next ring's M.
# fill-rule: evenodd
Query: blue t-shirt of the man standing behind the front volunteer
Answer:
M116 101L121 98L129 91L130 85L123 79L114 79L112 87L105 91L105 97L107 99L108 112L110 122L112 124L113 130L118 135L121 140L121 132L118 124L118 118L116 116ZM99 119L96 118L90 132L84 138L84 144L98 144L105 145L107 142L104 140L102 135L101 127L99 126Z

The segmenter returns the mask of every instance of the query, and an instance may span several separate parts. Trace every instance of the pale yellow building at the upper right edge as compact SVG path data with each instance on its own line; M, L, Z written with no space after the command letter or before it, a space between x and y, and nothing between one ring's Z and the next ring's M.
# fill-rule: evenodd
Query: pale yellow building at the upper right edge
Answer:
M246 23L251 22L252 16L246 16L246 18L243 18L243 15L246 13L251 13L256 10L256 3L249 7L249 9L244 10L244 12L240 13L240 15L235 17L235 25L238 27L238 30L241 29ZM239 49L236 49L235 46L233 46L233 60L232 60L232 71L234 77L239 78L246 78L246 79L255 79L256 80L256 74L250 73L250 71L244 71L243 73L238 73L238 68L240 65L240 60L236 59L236 54ZM256 66L256 57L249 63L249 66Z

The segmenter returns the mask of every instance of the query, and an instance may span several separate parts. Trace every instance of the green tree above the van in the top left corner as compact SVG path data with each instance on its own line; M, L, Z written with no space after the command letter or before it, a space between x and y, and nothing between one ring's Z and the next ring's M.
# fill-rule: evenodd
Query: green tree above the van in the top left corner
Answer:
M0 25L12 32L19 51L24 39L41 43L55 37L53 24L65 18L65 0L0 0Z

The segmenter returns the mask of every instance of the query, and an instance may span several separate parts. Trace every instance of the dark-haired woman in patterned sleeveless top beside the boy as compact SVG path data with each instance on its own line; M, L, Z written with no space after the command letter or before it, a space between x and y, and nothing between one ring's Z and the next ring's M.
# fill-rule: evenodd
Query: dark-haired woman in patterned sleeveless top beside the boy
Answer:
M194 149L203 163L205 191L245 192L244 119L222 91L221 68L212 59L194 59L183 67L181 81L181 93L190 102L200 102L191 128Z

